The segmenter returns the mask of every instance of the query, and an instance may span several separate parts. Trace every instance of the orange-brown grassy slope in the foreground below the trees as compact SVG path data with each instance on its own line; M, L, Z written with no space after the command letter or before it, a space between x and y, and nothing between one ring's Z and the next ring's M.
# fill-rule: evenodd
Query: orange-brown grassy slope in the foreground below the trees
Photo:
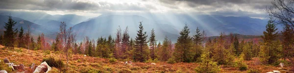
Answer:
M3 46L0 46L0 48L0 60L3 61L4 58L7 58L15 65L24 64L25 67L29 67L32 63L35 63L37 66L41 64L43 58L50 56L59 60L59 54L52 51L50 54L45 55L42 50L30 50L30 53L28 53L27 49L15 48L15 50L12 51L3 49ZM61 55L61 60L66 63L66 56ZM249 68L253 66L252 60L244 62ZM133 65L125 65L123 64L123 61L110 63L109 59L105 58L91 56L85 57L83 54L73 54L72 57L70 57L68 65L66 65L63 70L66 70L66 73L90 73L91 71L100 71L103 73L196 73L194 69L197 66L196 63L168 64L167 62L158 62L156 65L151 65L150 63L133 63ZM262 73L279 70L277 67L263 65L257 65L255 68L261 70ZM22 71L13 71L13 73L16 72ZM52 67L52 70L50 71L50 73L58 72L59 70L54 67ZM26 73L30 72L27 71ZM221 73L246 73L246 71L241 72L239 71L239 68L221 65Z

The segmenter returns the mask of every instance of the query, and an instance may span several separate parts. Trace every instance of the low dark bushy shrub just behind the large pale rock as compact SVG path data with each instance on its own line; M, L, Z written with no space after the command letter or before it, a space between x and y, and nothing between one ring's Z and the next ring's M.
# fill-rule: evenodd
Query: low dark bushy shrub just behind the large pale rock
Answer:
M53 57L44 58L42 62L46 61L50 67L62 68L64 63L60 60L55 60Z

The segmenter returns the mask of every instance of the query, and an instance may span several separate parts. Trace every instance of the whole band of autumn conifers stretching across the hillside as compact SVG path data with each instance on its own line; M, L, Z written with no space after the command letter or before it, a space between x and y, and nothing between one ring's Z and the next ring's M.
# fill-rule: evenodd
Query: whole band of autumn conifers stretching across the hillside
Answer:
M41 34L37 42L34 42L32 37L29 38L29 29L25 34L22 28L18 32L17 29L12 28L15 23L9 16L8 22L4 26L6 29L4 36L1 36L0 40L2 45L8 48L23 47L47 50L46 46L49 44L46 43L44 34ZM197 62L200 64L196 68L197 72L214 73L220 71L218 65L235 66L240 70L246 70L247 66L242 61L251 60L253 57L259 58L259 61L264 65L274 65L281 60L293 62L294 33L292 30L290 26L285 26L281 31L283 40L278 40L276 24L270 19L266 31L263 32L264 35L261 36L263 41L254 44L253 40L241 41L232 33L226 38L223 32L220 33L219 38L204 41L207 39L205 31L200 31L197 28L194 32L195 35L189 36L190 29L185 24L179 33L180 37L173 44L167 36L162 43L158 42L154 29L151 30L151 35L148 37L147 32L144 31L143 23L140 22L137 36L134 39L130 38L128 27L123 30L119 27L115 37L109 35L97 40L84 37L82 42L77 43L72 28L67 29L66 23L61 22L60 32L57 32L55 41L48 50L65 52L67 60L71 54L86 54L135 62Z

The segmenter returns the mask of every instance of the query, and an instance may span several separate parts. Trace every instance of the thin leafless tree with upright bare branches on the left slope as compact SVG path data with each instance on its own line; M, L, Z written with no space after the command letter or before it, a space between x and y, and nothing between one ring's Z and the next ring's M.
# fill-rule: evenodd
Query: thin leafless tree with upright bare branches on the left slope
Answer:
M73 35L73 31L72 31L72 27L70 27L69 29L66 28L66 23L65 22L61 22L60 23L60 37L62 38L61 40L63 40L63 46L65 47L65 52L66 52L66 60L67 60L67 64L68 64L68 49L69 49L69 42L71 41L71 35Z

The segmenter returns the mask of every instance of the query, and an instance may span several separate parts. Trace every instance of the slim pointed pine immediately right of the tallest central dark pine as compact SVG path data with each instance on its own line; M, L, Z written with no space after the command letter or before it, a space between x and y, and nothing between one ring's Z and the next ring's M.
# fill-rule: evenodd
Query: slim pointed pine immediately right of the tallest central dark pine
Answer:
M150 46L150 57L152 60L154 60L155 58L157 58L155 50L156 50L156 40L155 40L155 32L154 29L151 30L151 35L149 38L149 46Z

